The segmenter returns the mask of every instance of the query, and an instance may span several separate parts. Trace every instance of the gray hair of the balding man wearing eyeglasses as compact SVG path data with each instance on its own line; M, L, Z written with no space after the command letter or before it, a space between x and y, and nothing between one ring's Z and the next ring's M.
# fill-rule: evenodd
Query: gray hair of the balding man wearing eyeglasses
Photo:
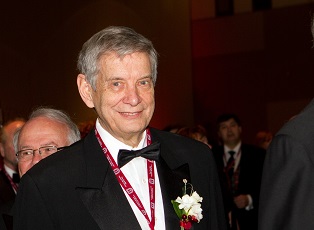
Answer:
M45 117L53 121L57 121L59 123L62 123L67 126L68 129L68 142L69 145L73 144L74 142L78 141L81 139L81 134L80 131L77 127L77 125L71 120L69 115L67 115L65 112L57 109L52 109L52 108L38 108L34 110L28 120L32 120L37 117ZM18 151L18 140L19 140L19 135L23 127L18 129L13 137L13 145L15 152Z

